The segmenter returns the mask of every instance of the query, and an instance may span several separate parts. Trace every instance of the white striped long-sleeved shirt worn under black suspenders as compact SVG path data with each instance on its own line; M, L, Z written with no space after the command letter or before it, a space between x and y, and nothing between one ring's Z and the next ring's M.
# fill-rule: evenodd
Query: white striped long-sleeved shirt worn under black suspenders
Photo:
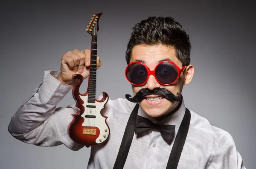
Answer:
M64 144L74 151L83 146L70 139L67 128L75 105L57 108L56 105L72 89L55 79L59 72L46 71L42 83L33 96L23 103L9 124L9 132L17 139L38 146ZM122 141L125 127L136 103L126 99L109 100L103 115L108 116L110 137L106 143L91 147L88 169L112 169ZM175 125L175 136L185 113L185 104L162 121ZM245 169L231 135L199 116L192 110L189 132L180 156L178 169ZM138 115L149 118L141 108ZM160 132L150 130L134 135L124 169L165 169L174 141L168 145Z

